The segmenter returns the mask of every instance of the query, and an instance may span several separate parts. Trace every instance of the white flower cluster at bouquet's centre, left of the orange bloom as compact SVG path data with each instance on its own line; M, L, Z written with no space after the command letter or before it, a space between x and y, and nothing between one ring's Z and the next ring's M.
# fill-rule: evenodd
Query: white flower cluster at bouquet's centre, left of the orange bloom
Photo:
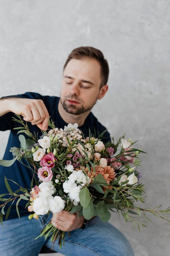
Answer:
M72 173L68 176L68 180L63 183L63 189L65 193L68 193L73 204L77 205L79 203L79 191L85 184L90 183L91 179L86 177L82 170L75 171L73 170L73 166L71 166L68 165L65 167L66 170L72 171Z

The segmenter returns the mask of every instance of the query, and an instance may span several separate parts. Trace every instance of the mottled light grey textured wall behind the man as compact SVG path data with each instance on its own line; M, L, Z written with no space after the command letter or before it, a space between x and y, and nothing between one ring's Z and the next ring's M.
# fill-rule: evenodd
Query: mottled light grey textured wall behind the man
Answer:
M58 96L67 55L86 45L101 49L110 64L109 92L93 113L112 136L126 132L148 153L140 169L146 207L170 206L169 1L0 0L0 97ZM7 137L0 132L0 158ZM170 224L152 220L141 234L116 214L110 221L135 256L169 255Z

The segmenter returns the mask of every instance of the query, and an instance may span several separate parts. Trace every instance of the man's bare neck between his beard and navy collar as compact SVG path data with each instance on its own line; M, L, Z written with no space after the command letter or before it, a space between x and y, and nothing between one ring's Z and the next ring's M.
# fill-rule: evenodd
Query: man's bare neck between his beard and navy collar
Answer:
M90 110L87 112L84 112L80 115L74 115L74 114L70 114L68 112L66 112L66 110L64 110L61 101L59 100L58 103L58 112L60 114L60 116L62 117L62 119L67 123L71 123L71 124L75 124L77 123L78 126L82 126L84 124L84 121L86 119L86 117L88 116L88 114L90 113Z

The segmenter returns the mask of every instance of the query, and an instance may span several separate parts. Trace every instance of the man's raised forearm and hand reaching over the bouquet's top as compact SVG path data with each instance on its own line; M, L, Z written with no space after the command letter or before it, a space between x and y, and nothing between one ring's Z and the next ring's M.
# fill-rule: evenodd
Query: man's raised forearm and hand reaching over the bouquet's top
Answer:
M37 125L41 130L47 130L49 123L49 113L40 99L25 99L7 97L0 99L0 116L13 112L22 115L25 121Z

